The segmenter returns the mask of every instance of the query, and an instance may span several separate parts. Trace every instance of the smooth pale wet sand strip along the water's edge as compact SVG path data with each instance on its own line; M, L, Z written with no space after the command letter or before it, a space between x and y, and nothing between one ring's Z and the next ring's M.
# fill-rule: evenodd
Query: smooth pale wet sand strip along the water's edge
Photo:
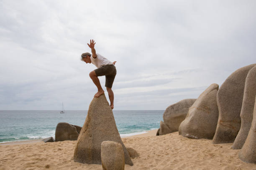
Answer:
M120 136L124 135L124 137L121 137L121 139L124 139L124 138L147 137L147 136L155 136L156 132L157 132L157 129L154 129L154 130L148 130L146 132L141 132L138 135L125 136L125 134L121 134ZM44 143L44 142L42 141L42 139L19 140L19 141L3 142L3 143L0 143L0 145L21 145L21 144L33 144L33 143Z

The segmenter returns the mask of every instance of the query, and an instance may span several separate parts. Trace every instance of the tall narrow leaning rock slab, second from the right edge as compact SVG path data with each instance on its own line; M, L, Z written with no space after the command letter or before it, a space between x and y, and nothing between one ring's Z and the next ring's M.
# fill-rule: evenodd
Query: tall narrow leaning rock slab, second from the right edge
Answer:
M256 66L254 66L246 77L245 88L243 92L243 104L240 113L241 128L232 145L233 149L241 149L248 136L253 120L253 108L256 95Z

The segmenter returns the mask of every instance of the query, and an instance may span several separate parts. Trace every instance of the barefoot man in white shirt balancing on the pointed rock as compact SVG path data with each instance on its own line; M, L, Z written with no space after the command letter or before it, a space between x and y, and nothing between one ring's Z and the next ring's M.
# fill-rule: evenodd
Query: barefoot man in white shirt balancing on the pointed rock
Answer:
M114 108L114 93L112 91L112 85L115 79L116 75L116 69L115 69L115 62L111 62L105 57L103 57L100 54L96 54L96 50L94 48L94 45L96 42L94 40L90 40L90 45L87 44L91 50L92 50L92 55L89 52L85 52L81 55L81 60L86 62L86 63L92 63L94 64L97 69L93 70L90 72L90 77L94 84L98 88L98 92L94 95L94 97L99 97L104 93L104 90L102 89L100 85L100 80L98 76L105 75L106 77L106 82L105 82L105 87L107 88L108 91L108 97L110 100L110 107L113 109Z

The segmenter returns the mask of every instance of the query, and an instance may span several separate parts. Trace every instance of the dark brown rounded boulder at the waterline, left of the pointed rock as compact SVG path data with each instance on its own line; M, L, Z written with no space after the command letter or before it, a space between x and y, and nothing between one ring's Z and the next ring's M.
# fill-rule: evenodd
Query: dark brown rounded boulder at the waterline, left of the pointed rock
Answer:
M66 122L58 123L55 131L55 141L77 140L77 128Z

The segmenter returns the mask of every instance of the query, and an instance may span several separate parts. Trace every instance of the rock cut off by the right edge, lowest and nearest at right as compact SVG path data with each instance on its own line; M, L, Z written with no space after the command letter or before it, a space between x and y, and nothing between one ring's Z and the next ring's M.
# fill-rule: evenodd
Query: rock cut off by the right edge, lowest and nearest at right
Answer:
M256 101L253 111L253 120L251 128L243 148L240 150L238 157L246 163L256 163Z

